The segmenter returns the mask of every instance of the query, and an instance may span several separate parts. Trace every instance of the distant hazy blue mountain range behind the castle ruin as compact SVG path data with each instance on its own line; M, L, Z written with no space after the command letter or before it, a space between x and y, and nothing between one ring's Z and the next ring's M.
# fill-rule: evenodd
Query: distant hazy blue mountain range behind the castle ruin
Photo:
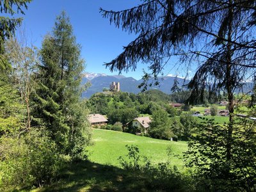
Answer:
M172 76L165 76L159 77L159 85L157 86L148 86L148 90L150 89L157 89L161 90L164 93L171 93L171 88L173 86L173 81L175 77ZM188 83L188 81L177 77L177 81L179 82L179 86L181 87L182 84ZM90 82L91 86L83 92L82 97L89 98L94 93L102 92L104 88L109 88L111 82L120 82L120 90L122 92L129 92L129 93L140 93L141 89L138 86L143 83L143 80L136 80L133 77L125 77L125 76L108 76L106 74L90 74L86 73L83 76L82 83Z

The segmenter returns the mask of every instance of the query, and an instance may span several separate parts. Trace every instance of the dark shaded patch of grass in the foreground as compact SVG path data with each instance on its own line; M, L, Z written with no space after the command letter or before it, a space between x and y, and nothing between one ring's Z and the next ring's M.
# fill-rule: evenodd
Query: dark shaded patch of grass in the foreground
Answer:
M150 191L147 179L115 166L84 161L72 164L52 186L36 191Z

